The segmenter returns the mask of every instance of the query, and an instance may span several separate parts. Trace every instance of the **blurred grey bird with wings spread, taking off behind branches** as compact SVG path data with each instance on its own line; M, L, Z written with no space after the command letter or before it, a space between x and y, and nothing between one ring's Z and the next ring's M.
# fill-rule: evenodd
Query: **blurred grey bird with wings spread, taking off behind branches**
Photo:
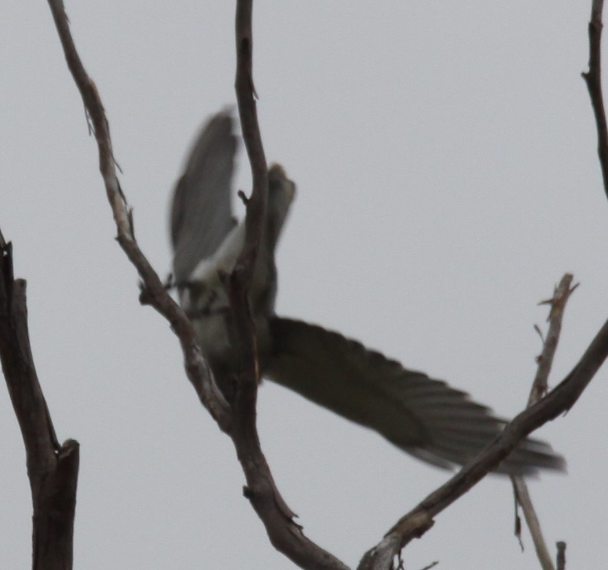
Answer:
M238 138L232 112L216 113L196 137L172 194L172 276L214 378L230 402L240 358L222 274L232 271L245 242L245 223L232 212ZM295 197L278 164L268 171L268 206L249 304L261 376L347 420L372 429L401 450L453 469L473 460L505 420L465 391L407 369L339 332L275 314L275 248ZM537 475L565 469L552 447L528 438L495 472Z

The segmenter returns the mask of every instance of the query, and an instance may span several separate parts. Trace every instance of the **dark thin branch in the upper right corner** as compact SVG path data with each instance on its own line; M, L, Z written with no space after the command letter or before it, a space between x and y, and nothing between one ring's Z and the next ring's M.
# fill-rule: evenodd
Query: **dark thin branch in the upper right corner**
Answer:
M602 169L604 192L608 197L608 127L606 124L606 111L602 93L602 10L603 0L592 0L591 20L589 21L589 71L583 73L587 83L589 98L596 118L598 131L598 157Z

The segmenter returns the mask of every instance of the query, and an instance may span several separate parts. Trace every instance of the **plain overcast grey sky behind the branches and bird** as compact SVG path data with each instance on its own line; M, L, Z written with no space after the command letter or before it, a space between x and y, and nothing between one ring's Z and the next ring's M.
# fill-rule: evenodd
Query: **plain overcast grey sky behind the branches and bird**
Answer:
M67 0L111 124L144 253L168 273L168 194L199 124L234 102L233 3ZM470 391L526 401L537 302L565 271L553 384L608 316L608 202L587 68L590 2L258 1L254 77L269 160L298 186L278 312ZM0 227L28 282L34 357L60 440L81 444L76 567L286 569L241 496L229 439L201 409L168 325L137 302L97 150L43 1L0 22ZM244 154L238 186L249 190ZM30 558L21 436L0 391L0 560ZM569 474L530 483L568 566L608 557L608 387L537 434ZM260 389L276 482L350 565L449 476L285 389ZM405 552L407 567L537 569L508 481L482 482Z

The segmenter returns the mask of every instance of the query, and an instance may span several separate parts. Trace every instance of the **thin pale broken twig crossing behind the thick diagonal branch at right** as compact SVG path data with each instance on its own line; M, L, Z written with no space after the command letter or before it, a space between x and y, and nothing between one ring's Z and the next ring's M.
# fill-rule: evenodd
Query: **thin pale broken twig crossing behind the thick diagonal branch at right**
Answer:
M528 407L538 402L547 392L549 373L551 372L553 358L557 349L557 343L559 342L565 304L570 298L572 291L578 286L578 284L576 284L574 287L570 288L570 284L572 284L572 275L566 273L561 278L559 285L556 286L553 297L548 299L548 301L543 301L543 304L549 304L551 306L547 319L549 321L549 332L543 341L543 350L537 358L538 369L537 374L534 377L534 383L532 383L532 389L530 390ZM554 570L553 559L551 558L547 543L543 538L541 524L536 511L534 510L534 505L532 505L530 492L528 492L528 485L523 477L511 477L511 482L513 483L515 501L521 505L521 510L523 510L523 516L526 518L526 523L530 529L534 549L536 549L541 567L543 570Z

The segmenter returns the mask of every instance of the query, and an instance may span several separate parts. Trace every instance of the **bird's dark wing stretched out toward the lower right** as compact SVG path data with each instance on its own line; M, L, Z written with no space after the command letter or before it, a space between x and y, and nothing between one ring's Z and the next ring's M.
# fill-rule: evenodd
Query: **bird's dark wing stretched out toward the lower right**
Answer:
M278 317L271 319L270 329L272 351L264 376L431 464L466 464L504 426L468 394L341 334ZM529 475L538 468L564 467L548 444L528 439L497 471Z

